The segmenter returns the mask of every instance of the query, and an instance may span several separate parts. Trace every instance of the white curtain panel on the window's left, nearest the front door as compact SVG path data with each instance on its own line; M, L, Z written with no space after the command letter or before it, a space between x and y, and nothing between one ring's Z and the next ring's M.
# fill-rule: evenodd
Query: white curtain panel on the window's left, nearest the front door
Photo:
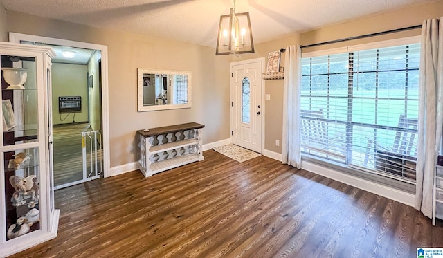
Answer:
M300 46L288 46L284 56L282 163L300 169Z

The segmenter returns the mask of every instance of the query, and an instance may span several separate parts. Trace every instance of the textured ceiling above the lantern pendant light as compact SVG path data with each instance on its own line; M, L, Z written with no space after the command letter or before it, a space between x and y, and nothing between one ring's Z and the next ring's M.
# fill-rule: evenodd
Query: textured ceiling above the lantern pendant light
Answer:
M255 44L435 0L237 0ZM230 0L0 0L6 10L215 47Z

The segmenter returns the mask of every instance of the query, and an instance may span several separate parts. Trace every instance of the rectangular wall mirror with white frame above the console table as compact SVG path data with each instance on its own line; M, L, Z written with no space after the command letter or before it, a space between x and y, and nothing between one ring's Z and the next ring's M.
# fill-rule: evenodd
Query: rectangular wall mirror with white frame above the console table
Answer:
M192 105L188 71L137 69L138 112L186 109Z

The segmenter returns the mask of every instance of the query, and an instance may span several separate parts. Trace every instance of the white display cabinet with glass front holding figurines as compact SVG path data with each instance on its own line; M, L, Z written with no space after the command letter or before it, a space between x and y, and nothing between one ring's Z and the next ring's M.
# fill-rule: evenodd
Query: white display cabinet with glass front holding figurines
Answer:
M0 42L0 257L57 236L52 48Z

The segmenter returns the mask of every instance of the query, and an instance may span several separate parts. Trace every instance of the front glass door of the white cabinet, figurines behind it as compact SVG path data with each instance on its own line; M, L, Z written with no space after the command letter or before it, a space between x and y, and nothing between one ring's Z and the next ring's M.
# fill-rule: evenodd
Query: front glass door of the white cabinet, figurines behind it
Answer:
M6 240L41 229L35 57L0 55ZM4 234L4 233L3 233Z

